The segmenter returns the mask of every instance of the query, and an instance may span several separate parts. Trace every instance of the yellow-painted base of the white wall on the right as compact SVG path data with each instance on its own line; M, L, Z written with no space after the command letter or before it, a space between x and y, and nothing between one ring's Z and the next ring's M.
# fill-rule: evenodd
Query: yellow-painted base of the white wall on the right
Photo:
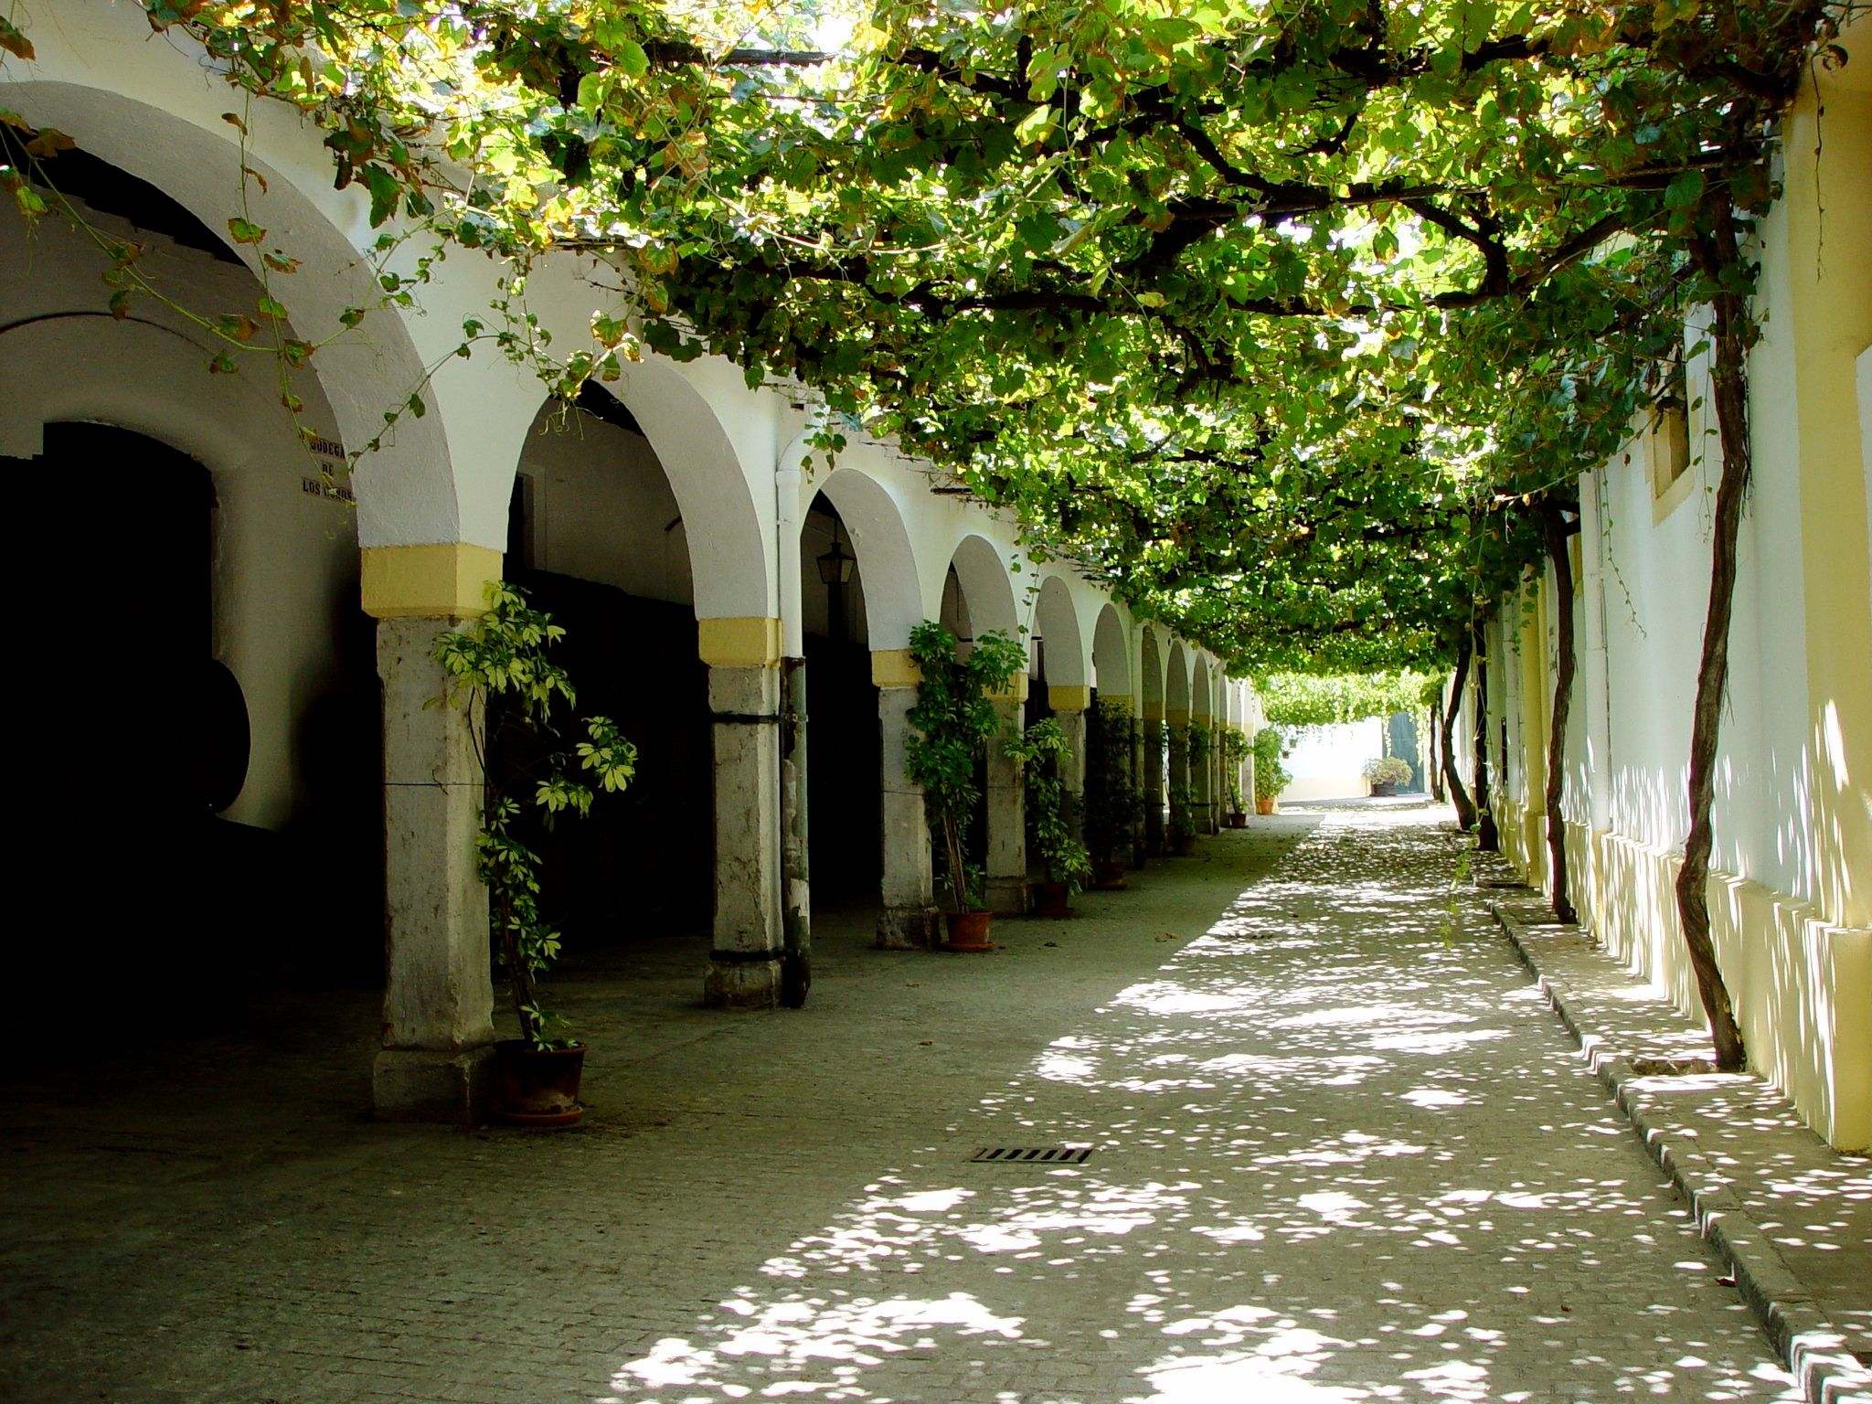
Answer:
M1535 829L1520 822L1518 805L1511 826L1507 809L1498 816L1503 852L1531 885L1544 885L1544 831L1529 870ZM1700 1020L1704 1005L1677 923L1681 867L1675 850L1567 826L1580 921L1627 970ZM1806 902L1728 872L1709 874L1709 925L1748 1065L1836 1149L1872 1146L1872 930L1829 925Z

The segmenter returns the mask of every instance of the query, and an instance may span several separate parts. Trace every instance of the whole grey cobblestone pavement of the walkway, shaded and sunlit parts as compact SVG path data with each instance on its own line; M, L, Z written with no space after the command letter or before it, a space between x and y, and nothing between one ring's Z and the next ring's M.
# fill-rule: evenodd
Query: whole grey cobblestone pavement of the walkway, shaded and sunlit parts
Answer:
M0 1395L1788 1398L1434 818L1256 820L990 957L822 923L797 1015L638 949L562 987L567 1134L363 1121L363 996L7 1088Z

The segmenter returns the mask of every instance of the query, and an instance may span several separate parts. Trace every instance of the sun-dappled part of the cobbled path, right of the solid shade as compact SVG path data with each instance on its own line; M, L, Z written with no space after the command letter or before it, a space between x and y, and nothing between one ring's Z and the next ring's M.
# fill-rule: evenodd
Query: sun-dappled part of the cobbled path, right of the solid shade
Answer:
M605 1398L1799 1398L1432 818L1327 814Z

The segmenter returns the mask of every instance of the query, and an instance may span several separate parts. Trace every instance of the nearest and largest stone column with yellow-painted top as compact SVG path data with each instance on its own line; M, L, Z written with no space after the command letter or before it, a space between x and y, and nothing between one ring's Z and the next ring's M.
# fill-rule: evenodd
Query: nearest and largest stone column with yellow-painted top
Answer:
M363 608L384 683L384 1046L376 1114L479 1119L494 1052L487 887L475 870L481 764L470 717L436 706L436 638L485 607L500 552L466 543L367 547Z

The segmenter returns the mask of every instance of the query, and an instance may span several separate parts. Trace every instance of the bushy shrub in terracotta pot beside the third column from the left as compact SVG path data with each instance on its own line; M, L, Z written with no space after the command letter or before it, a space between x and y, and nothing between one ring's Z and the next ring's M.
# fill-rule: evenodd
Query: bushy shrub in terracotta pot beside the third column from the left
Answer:
M990 693L1028 666L1028 650L1003 633L975 640L960 657L955 635L925 620L910 631L910 657L921 670L917 704L904 739L904 777L923 786L938 837L951 951L992 951L992 914L983 902L983 870L968 861L968 831L981 790L975 762L1002 732Z

